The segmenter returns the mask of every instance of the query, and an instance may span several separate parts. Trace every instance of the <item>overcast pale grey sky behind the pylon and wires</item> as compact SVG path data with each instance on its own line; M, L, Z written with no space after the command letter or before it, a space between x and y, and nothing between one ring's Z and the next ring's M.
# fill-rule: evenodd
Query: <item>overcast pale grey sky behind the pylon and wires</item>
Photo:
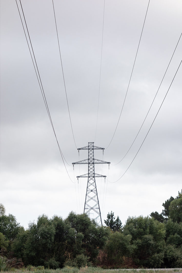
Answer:
M77 148L69 120L52 0L21 2L50 115L72 181L60 156L16 1L1 0L0 202L7 214L12 213L21 225L28 227L29 221L36 221L43 213L63 218L72 210L82 213L87 179L78 183L76 176L87 173L87 165L75 165L73 171L71 163L88 158L87 151L80 151L80 158L77 151L88 142L108 147L104 156L101 150L95 151L95 158L111 162L109 170L106 164L97 165L95 170L107 176L106 181L96 180L102 220L111 210L123 223L128 216L160 213L162 203L182 188L182 65L178 69L182 38L175 50L182 31L181 0L150 0L114 137L148 0L105 0L105 8L104 0L54 0ZM17 4L21 8L19 0ZM140 129L174 50L144 125L128 154L117 164ZM111 183L126 171L146 135L128 171Z

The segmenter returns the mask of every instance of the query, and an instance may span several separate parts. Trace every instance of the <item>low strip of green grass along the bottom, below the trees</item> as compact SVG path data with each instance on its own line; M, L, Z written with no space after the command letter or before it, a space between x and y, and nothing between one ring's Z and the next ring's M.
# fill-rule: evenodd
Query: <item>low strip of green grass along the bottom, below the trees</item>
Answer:
M44 269L43 266L28 266L27 268L14 269L11 268L8 271L1 271L3 273L177 273L181 272L182 269L102 269L99 267L84 267L84 268L73 268L65 267L62 269Z

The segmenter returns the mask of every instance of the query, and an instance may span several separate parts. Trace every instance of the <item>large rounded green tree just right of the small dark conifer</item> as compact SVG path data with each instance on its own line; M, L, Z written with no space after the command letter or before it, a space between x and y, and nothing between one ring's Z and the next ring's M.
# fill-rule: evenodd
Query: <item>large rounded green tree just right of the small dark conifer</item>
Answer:
M162 223L148 216L129 217L123 233L132 236L132 259L137 265L160 267L165 245L165 227Z

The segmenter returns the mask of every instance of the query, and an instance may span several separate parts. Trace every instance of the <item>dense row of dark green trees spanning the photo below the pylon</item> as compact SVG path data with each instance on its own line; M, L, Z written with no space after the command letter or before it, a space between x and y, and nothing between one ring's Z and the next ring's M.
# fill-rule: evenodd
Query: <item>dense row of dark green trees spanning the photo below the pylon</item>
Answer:
M128 217L125 225L111 211L104 227L86 214L70 212L66 219L43 214L25 230L1 204L1 260L53 269L182 267L182 190L162 206L161 213Z

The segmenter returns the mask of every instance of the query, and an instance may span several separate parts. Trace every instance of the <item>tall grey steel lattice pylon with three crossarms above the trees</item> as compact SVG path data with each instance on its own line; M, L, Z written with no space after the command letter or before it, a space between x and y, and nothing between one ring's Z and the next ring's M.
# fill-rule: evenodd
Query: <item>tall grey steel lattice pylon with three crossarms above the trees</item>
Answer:
M88 164L88 173L77 176L77 178L88 177L83 213L86 213L89 216L91 213L96 214L96 217L94 217L93 219L97 222L98 225L100 223L102 225L101 210L100 210L100 206L99 206L99 198L98 198L98 194L97 194L95 177L106 177L106 176L102 175L102 174L95 173L95 166L94 165L95 164L110 164L110 162L106 162L106 161L94 158L94 150L103 150L104 151L104 148L94 146L93 144L94 144L94 142L89 142L88 146L78 148L77 149L78 152L79 152L79 150L88 150L88 159L74 162L72 164L73 165L74 164Z

